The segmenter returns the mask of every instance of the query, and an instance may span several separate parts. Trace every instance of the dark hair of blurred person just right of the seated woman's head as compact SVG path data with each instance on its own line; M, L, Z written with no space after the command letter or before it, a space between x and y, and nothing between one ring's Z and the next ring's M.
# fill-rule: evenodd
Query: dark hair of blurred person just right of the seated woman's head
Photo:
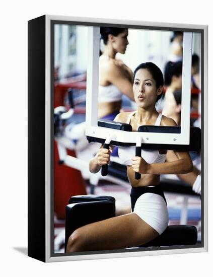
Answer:
M179 77L182 74L182 67L183 67L182 61L167 62L165 66L165 71L164 71L164 82L166 86L169 86L171 84L173 76Z

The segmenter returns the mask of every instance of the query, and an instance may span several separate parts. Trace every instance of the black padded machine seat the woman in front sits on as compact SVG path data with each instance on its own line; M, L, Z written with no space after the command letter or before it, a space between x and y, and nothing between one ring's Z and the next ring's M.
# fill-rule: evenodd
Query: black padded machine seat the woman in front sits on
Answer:
M68 238L77 228L115 216L115 199L111 196L78 195L66 206L65 249ZM168 226L156 239L138 247L194 245L197 229L188 225Z

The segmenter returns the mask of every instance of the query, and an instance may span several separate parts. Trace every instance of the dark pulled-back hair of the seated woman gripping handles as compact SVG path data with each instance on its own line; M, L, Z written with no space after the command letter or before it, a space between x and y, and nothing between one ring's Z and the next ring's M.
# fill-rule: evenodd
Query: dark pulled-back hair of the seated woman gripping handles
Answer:
M162 71L160 70L160 68L153 62L143 62L143 63L140 63L134 70L134 74L133 74L133 81L134 81L134 77L135 77L135 74L137 73L138 70L140 69L146 69L148 70L152 76L153 76L153 79L155 80L156 82L156 88L158 89L160 86L164 86L164 77L163 77L163 73ZM157 100L156 102L161 99L162 97L162 94L158 95L157 97Z

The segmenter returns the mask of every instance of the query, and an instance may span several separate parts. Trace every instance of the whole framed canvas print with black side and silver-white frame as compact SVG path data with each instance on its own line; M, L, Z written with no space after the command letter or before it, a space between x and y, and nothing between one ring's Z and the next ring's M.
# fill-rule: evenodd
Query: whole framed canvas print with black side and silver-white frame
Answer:
M207 26L28 22L28 255L207 251Z

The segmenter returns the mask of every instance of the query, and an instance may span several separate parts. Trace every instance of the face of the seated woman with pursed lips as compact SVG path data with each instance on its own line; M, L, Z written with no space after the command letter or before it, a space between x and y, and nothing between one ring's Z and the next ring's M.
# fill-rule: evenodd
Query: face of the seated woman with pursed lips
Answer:
M155 107L158 95L163 91L163 87L156 88L156 81L152 74L145 68L139 69L134 77L133 93L138 107Z

